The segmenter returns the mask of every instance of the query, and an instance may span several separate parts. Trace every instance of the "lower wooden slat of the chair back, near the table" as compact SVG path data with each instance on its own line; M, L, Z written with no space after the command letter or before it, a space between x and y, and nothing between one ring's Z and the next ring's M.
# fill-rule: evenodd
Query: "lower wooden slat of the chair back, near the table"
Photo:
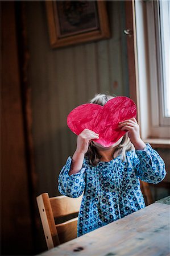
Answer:
M77 237L77 220L78 217L56 225L60 243L68 242Z

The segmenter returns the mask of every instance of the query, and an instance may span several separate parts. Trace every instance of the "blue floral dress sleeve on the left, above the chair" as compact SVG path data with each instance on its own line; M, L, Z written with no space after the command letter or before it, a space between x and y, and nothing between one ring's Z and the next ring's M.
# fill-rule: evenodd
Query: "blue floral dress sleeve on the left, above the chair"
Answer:
M85 189L85 166L77 174L69 176L68 172L71 168L72 158L69 156L65 166L59 174L59 192L68 197L79 197Z

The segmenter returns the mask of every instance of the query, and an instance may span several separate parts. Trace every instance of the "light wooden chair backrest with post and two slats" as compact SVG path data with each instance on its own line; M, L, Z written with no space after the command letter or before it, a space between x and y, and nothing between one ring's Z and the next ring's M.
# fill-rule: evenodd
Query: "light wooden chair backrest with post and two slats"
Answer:
M77 237L77 217L61 224L55 224L55 220L78 213L82 196L78 198L67 196L49 198L48 193L43 193L36 197L36 200L48 250Z

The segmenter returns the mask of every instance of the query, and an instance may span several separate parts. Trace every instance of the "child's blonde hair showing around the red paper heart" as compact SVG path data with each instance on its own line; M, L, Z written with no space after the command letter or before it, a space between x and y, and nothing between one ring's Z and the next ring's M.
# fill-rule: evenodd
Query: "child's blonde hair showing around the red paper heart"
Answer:
M112 98L115 98L117 96L114 95L110 96L107 94L96 94L95 97L90 100L90 103L98 104L101 106L104 106L107 101L111 100ZM130 139L128 138L127 133L123 136L121 143L118 144L118 146L115 148L113 158L121 155L122 161L125 161L126 158L126 151L134 150L133 144L130 142ZM93 142L90 142L88 152L86 152L86 157L88 157L90 164L92 166L97 166L101 159L101 155L98 154L97 148Z

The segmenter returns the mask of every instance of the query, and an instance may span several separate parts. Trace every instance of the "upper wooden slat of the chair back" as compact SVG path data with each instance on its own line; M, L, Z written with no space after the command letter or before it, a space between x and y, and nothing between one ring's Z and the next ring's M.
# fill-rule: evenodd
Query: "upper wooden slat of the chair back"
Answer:
M53 216L55 218L67 216L72 213L79 212L82 195L78 198L71 198L67 196L56 196L50 199Z

